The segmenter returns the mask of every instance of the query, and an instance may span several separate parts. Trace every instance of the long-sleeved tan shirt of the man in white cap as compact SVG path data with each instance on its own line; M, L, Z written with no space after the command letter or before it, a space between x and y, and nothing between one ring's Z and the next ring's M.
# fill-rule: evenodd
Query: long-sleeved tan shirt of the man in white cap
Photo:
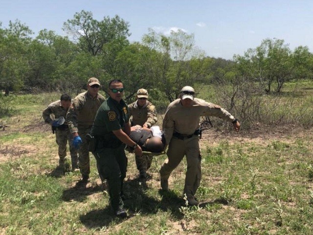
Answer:
M163 119L163 132L168 144L174 132L192 135L197 128L201 116L215 116L233 121L235 118L220 106L195 98L191 107L182 106L180 99L169 104Z

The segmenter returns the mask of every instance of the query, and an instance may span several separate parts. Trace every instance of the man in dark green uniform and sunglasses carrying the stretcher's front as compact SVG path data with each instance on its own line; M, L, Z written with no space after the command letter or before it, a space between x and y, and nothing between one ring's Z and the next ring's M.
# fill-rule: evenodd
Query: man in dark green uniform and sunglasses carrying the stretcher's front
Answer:
M96 139L93 155L101 179L107 179L112 209L116 216L125 218L123 200L123 181L127 171L125 144L134 148L136 155L142 155L141 148L129 137L131 125L128 106L123 98L123 83L112 80L109 83L110 97L102 103L91 128Z

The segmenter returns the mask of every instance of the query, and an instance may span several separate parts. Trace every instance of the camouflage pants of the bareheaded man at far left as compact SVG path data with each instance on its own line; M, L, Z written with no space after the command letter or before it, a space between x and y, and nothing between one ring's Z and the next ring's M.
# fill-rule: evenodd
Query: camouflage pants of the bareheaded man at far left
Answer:
M73 136L70 134L69 130L61 130L56 129L55 132L56 142L59 146L58 154L60 157L60 161L64 161L65 157L67 156L67 142L69 145L69 152L70 152L70 158L72 167L77 167L78 164L78 156L77 156L77 150L72 146Z

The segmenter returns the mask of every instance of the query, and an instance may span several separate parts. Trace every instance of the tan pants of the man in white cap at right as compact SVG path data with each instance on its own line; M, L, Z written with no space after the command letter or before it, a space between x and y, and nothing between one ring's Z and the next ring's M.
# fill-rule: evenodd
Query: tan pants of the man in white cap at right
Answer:
M199 138L197 136L180 140L173 137L167 150L167 157L160 169L161 180L167 180L171 172L179 165L186 155L187 171L184 193L194 196L201 181L201 155Z

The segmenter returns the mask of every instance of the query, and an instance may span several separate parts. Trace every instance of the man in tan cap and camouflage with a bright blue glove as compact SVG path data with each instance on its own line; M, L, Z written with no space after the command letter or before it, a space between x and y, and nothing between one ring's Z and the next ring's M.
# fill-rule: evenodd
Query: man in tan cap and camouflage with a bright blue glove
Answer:
M93 125L94 117L105 98L98 94L100 82L97 78L91 77L87 83L87 92L78 94L67 112L69 131L73 135L73 146L78 149L79 169L82 174L82 181L87 182L90 173L90 159L88 141Z

